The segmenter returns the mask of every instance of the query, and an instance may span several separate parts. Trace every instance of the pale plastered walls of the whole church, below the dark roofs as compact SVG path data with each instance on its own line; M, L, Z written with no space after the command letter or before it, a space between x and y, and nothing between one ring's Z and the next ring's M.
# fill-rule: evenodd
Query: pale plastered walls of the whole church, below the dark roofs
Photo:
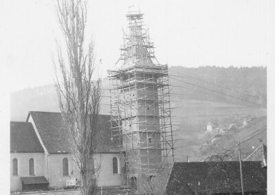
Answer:
M69 160L69 176L63 176L63 158ZM118 174L113 174L113 157L118 158ZM19 176L12 175L12 159L18 160ZM49 177L47 177L47 155L39 153L11 153L10 154L10 190L18 192L22 190L21 176L29 176L28 160L34 158L35 176L45 176L50 183L50 187L62 189L66 186L66 180L79 176L79 170L73 160L72 154L50 154L49 155ZM120 186L123 182L122 168L124 159L120 153L95 154L95 165L100 164L100 175L98 176L98 186ZM46 163L46 164L45 164ZM74 174L71 172L74 170Z

